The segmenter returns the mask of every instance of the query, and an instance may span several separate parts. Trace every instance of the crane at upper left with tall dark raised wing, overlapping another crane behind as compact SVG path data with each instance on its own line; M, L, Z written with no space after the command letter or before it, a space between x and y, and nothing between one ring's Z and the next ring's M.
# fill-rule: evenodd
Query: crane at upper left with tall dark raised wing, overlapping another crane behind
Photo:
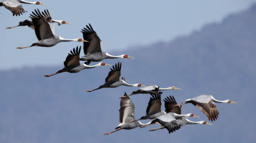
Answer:
M28 47L18 47L17 49L24 49L29 48L32 46L41 46L41 47L52 47L59 42L88 42L86 40L82 40L81 38L76 39L64 39L55 35L55 24L48 23L52 21L52 17L47 15L44 12L40 12L38 9L35 12L30 14L30 18L32 19L33 24L35 25L35 35L38 38L38 42L33 43L31 46Z

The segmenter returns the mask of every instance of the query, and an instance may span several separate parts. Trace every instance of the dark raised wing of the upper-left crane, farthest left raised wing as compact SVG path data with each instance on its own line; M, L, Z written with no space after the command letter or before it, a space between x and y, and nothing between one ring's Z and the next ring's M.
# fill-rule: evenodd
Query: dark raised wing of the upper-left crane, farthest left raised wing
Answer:
M33 15L30 14L30 18L32 19L33 24L35 25L35 34L38 40L54 37L50 25L45 20L41 12L37 9L37 11L32 11L32 13Z

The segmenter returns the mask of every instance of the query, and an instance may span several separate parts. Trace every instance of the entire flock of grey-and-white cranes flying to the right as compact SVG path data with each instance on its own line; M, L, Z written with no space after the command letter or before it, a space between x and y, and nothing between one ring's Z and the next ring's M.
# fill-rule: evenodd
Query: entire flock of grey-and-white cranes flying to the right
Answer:
M0 6L4 6L6 9L12 11L13 16L20 16L24 12L26 12L21 3L24 4L34 4L34 5L44 5L38 1L36 2L28 2L25 0L3 0L0 2ZM47 74L45 77L51 77L61 72L70 72L76 73L84 69L91 69L97 66L111 66L110 64L106 64L104 62L100 62L96 65L89 66L90 63L98 62L104 59L116 59L116 58L123 58L123 59L130 59L134 60L134 57L124 55L110 55L109 53L102 52L101 48L101 40L97 33L93 30L91 24L86 25L86 28L81 30L83 34L83 39L75 38L75 39L65 39L59 37L55 34L55 23L58 25L62 24L71 24L65 22L63 20L53 20L49 11L39 11L38 9L32 11L30 17L23 22L19 22L19 25L14 27L8 27L6 29L15 28L19 26L28 26L35 30L35 35L38 38L38 42L31 44L27 47L18 47L17 49L24 49L29 48L32 46L41 46L41 47L52 47L59 42L83 42L83 51L84 56L80 57L81 46L76 47L73 50L70 50L70 53L66 57L64 61L64 68L53 73ZM85 61L84 63L80 63L81 61ZM186 124L203 124L203 125L212 125L206 121L190 121L187 118L189 117L198 117L197 115L193 115L192 113L189 114L181 114L181 107L184 104L192 103L196 107L198 107L209 119L209 121L215 121L218 118L219 112L216 108L216 103L229 103L229 104L237 104L229 99L227 100L217 100L212 95L200 95L194 97L192 99L186 99L185 103L177 104L175 98L173 96L169 96L164 98L164 107L165 110L161 110L161 94L165 90L181 90L180 88L176 88L174 86L169 88L160 88L157 85L142 85L140 83L129 84L125 82L125 78L121 78L121 67L122 63L118 62L115 66L112 66L111 71L109 71L108 76L105 78L105 83L100 85L99 88L93 90L87 90L87 92L93 92L95 90L101 88L116 88L121 85L129 86L129 87L141 87L140 89L132 92L131 94L124 93L120 101L120 124L116 127L116 129L112 132L119 131L121 129L133 129L135 127L146 127L151 124L159 124L161 125L159 128L151 129L149 131L156 131L159 129L166 128L169 133L179 130L180 127ZM146 108L146 115L142 116L140 119L135 118L134 115L134 104L129 96L134 94L150 94L150 100L148 106ZM150 119L151 121L148 123L141 123L140 120ZM107 132L105 135L111 134L112 132Z

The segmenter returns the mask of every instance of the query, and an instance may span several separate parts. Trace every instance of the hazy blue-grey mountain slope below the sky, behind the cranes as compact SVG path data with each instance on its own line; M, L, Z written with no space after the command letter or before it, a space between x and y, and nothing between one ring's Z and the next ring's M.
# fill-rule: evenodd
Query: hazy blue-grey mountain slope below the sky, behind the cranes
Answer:
M148 132L157 127L149 126L103 136L119 124L118 97L137 88L86 93L104 83L109 67L48 78L43 75L58 71L63 65L24 67L0 71L0 142L256 142L256 5L169 43L113 55L121 53L135 56L136 60L104 62L114 65L122 61L121 76L128 83L157 84L163 88L175 85L183 89L166 91L162 99L174 95L180 103L200 94L212 94L216 99L232 99L239 104L217 104L220 115L214 126L188 125L171 134L167 130ZM145 115L149 97L131 97L137 118ZM208 121L193 105L184 105L182 110L201 117L192 121Z

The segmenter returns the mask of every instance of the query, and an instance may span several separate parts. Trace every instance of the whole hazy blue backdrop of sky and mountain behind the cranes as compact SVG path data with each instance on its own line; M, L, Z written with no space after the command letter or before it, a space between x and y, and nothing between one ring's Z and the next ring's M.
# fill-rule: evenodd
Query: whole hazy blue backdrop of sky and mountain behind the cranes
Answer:
M173 95L179 103L212 94L215 99L231 99L239 104L216 104L220 115L211 122L214 126L187 125L171 134L166 129L148 132L158 127L154 125L103 136L119 124L118 97L138 88L86 93L103 84L109 67L43 77L61 69L70 49L82 44L15 49L37 41L28 27L4 29L26 19L29 12L23 18L12 17L1 7L1 18L6 21L0 22L0 58L4 63L0 71L1 143L256 142L255 0L41 2L47 6L23 7L29 12L47 8L52 18L73 23L56 26L58 35L81 37L81 28L90 22L104 42L104 51L135 56L134 61L104 60L109 64L122 61L121 76L126 82L182 88L162 95L162 99ZM56 7L59 9L54 10ZM149 97L131 97L136 118L145 115ZM192 104L183 106L182 113L191 112L201 117L192 121L208 121Z

